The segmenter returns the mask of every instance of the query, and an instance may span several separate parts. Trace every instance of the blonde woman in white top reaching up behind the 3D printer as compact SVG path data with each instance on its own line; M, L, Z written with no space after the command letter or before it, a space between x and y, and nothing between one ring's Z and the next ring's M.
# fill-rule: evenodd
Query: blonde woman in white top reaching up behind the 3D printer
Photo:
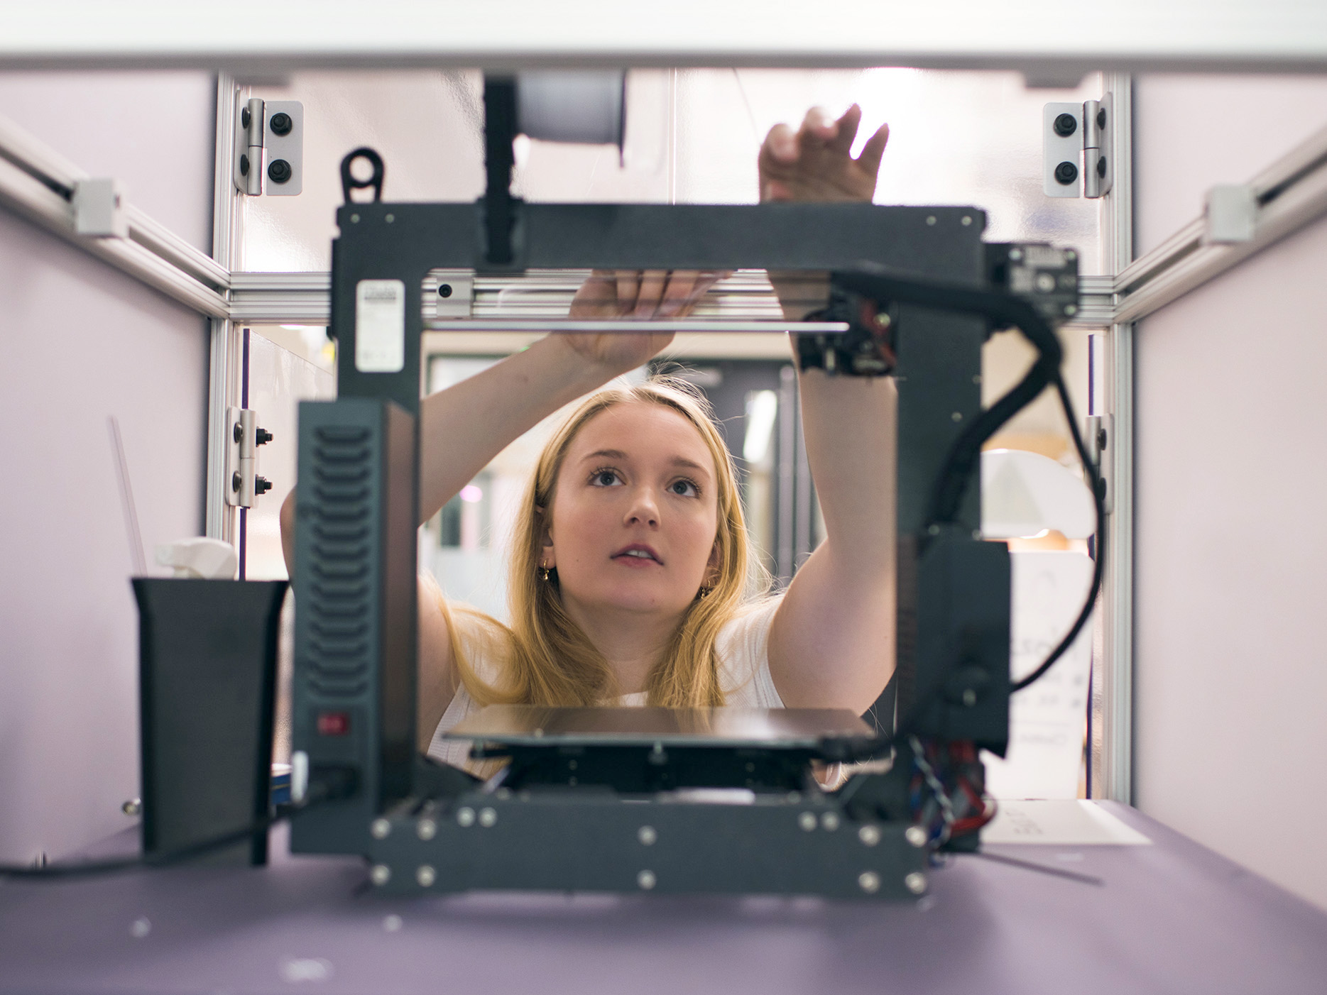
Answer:
M762 199L869 200L888 138L851 155L861 113L812 110L760 150ZM597 275L581 316L685 313L717 275ZM421 409L421 516L512 439L671 341L548 336ZM780 597L750 600L734 466L705 403L652 381L592 394L544 448L514 537L511 625L419 598L419 748L495 702L841 707L865 711L893 667L893 411L888 379L800 374L825 541ZM293 500L283 508L291 560ZM759 593L759 592L756 592Z

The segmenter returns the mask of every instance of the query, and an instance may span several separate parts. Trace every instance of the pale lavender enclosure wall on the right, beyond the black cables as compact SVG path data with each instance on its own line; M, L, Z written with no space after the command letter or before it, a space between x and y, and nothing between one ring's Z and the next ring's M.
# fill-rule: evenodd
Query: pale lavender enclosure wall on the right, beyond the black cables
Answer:
M1147 249L1327 125L1327 80L1144 78L1136 106ZM1327 907L1324 275L1318 222L1139 326L1135 792Z

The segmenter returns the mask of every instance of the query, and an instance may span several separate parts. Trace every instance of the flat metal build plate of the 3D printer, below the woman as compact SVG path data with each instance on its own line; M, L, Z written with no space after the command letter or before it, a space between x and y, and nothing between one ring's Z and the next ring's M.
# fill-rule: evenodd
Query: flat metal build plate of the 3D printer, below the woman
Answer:
M871 727L848 708L548 708L490 704L453 726L449 739L520 747L754 747L816 750L860 742Z

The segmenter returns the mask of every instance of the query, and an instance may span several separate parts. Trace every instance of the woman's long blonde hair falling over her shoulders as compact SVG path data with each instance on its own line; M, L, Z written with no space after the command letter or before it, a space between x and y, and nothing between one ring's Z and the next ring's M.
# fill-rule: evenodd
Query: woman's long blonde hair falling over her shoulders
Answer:
M533 479L525 488L512 536L507 586L511 626L468 609L443 602L451 658L462 685L479 704L522 703L594 706L620 694L604 655L563 608L557 581L541 580L544 520L552 512L553 488L567 451L594 415L616 405L644 402L677 411L701 434L718 475L719 553L717 577L709 592L687 608L646 686L649 704L697 707L723 704L714 643L723 625L743 605L752 557L747 541L736 470L715 429L709 403L686 381L654 377L633 386L610 387L587 398L553 434L540 454ZM754 566L759 570L759 566ZM496 685L480 679L466 658L456 631L464 613L467 634L487 643L506 666ZM478 631L476 631L478 630Z

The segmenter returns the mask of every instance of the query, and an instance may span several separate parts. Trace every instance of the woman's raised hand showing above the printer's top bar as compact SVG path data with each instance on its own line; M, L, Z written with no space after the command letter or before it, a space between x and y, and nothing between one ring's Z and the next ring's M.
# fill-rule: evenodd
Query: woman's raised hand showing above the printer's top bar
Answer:
M889 125L881 125L853 159L860 123L861 107L853 103L837 121L812 107L798 131L771 127L758 159L760 200L871 200Z

